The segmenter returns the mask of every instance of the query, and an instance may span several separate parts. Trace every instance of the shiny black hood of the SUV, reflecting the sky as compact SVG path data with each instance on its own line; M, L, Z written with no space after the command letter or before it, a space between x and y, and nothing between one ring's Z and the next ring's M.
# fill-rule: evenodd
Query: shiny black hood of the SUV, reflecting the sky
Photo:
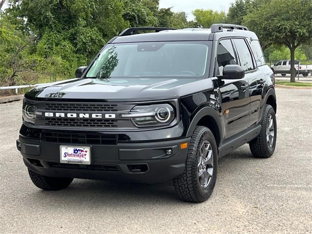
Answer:
M25 98L146 101L174 99L212 88L211 78L75 78L37 86Z

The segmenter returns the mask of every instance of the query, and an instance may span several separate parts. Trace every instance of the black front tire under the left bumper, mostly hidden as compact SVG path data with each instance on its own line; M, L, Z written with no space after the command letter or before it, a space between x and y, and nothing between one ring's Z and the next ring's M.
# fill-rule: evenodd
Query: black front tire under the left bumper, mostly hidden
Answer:
M39 188L43 190L56 191L67 188L73 181L73 178L58 178L43 176L28 169L29 177L31 181Z

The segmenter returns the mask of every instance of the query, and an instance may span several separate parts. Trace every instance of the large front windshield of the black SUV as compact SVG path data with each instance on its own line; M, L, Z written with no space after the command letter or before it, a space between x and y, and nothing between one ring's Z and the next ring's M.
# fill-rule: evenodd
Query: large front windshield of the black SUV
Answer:
M136 42L105 48L87 78L201 77L208 46L201 42Z

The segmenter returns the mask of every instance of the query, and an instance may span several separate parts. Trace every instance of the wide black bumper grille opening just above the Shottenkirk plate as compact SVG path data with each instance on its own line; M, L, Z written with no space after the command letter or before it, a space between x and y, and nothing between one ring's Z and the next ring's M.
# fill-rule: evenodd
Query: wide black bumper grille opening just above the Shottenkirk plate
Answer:
M117 134L42 132L41 140L54 143L116 145Z

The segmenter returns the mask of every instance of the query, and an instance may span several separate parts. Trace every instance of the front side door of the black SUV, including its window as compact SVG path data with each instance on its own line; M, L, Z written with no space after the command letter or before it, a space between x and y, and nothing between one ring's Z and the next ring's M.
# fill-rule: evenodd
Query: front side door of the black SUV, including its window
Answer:
M217 73L222 75L224 66L239 64L231 39L222 39L217 47ZM242 132L249 125L249 83L248 78L224 79L219 82L221 96L223 134L228 139Z

